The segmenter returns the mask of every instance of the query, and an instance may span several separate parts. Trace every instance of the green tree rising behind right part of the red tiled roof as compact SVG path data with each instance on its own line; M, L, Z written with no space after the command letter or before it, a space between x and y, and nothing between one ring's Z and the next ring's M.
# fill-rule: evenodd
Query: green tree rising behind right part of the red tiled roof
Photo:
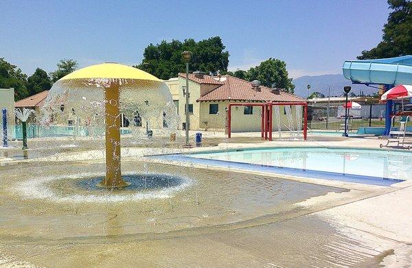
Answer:
M235 71L231 75L248 81L259 80L263 86L284 88L288 93L293 93L295 89L292 78L288 77L286 63L274 58L260 62L259 66L251 67L247 71Z

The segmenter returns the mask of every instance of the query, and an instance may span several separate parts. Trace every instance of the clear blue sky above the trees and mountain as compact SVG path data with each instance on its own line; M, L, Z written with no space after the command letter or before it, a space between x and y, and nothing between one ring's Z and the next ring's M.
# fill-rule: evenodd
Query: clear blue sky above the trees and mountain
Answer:
M73 58L80 66L136 64L161 40L221 36L229 69L284 60L292 77L341 73L382 38L384 0L4 1L0 57L31 75Z

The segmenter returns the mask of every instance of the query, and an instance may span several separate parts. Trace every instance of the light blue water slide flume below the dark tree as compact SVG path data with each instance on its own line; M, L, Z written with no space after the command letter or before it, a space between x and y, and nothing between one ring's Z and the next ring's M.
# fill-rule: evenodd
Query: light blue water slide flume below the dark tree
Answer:
M343 75L364 84L412 84L412 56L377 60L347 60Z

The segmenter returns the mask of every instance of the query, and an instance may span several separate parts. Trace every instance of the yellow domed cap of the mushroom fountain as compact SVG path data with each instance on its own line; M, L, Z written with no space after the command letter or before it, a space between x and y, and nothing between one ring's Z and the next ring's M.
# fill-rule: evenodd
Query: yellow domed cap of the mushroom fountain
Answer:
M125 79L125 80L149 80L161 82L159 78L141 71L140 69L118 63L102 63L87 66L73 71L60 80L80 80L93 78Z

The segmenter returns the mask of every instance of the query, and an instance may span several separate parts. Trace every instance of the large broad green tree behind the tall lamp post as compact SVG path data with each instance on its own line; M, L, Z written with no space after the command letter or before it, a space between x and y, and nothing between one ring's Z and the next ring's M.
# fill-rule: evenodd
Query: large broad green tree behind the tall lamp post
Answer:
M163 40L160 44L148 45L144 49L141 64L135 67L160 79L168 80L170 77L176 77L177 73L185 72L185 62L181 53L186 50L192 51L189 64L190 72L205 71L208 73L220 70L220 73L226 73L229 64L229 52L225 49L226 47L219 36L198 42L192 38L183 42Z

